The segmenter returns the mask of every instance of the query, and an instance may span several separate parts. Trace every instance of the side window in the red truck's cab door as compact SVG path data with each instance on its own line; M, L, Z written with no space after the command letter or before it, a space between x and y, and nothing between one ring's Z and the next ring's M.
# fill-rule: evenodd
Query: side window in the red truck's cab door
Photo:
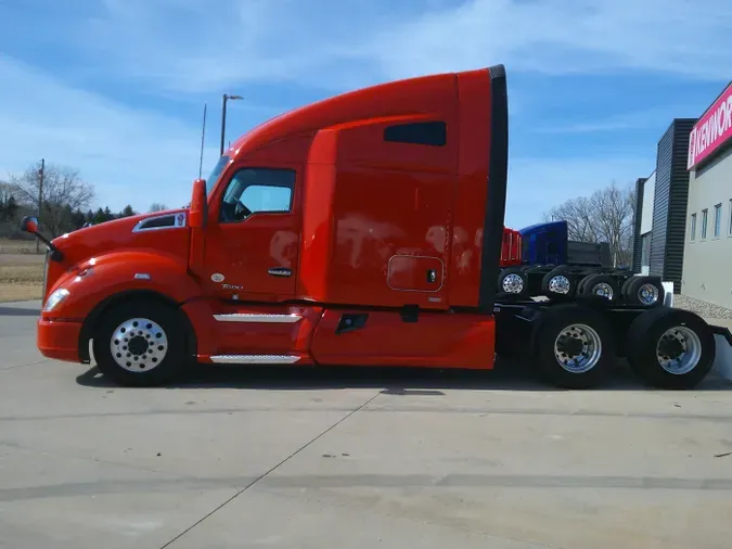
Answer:
M243 221L257 213L292 212L295 171L273 168L237 170L223 193L219 220Z

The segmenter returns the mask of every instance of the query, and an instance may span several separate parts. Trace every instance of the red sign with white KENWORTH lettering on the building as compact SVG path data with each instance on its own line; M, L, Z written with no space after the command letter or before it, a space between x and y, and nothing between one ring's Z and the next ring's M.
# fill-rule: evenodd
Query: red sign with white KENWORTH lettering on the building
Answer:
M698 165L732 138L732 84L699 118L689 137L686 169Z

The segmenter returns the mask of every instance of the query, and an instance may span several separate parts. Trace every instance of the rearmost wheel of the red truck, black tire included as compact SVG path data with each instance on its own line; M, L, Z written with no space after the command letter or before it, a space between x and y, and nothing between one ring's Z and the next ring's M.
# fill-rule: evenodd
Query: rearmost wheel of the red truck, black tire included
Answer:
M647 385L689 390L707 376L717 347L709 325L697 315L658 307L639 315L628 329L628 362Z

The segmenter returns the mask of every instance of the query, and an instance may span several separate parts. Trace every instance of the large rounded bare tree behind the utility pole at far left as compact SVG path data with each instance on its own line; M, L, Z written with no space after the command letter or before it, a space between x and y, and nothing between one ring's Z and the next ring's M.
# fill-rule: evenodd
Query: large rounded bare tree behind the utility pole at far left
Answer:
M18 201L38 212L38 195L41 188L38 165L29 166L22 175L10 177ZM73 210L87 208L94 197L94 188L81 179L79 171L54 164L46 164L40 222L52 237L69 230Z

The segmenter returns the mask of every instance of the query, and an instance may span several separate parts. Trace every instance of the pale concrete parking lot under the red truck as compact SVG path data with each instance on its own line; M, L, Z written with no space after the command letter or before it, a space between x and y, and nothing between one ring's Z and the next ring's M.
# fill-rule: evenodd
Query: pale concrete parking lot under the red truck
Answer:
M46 360L0 304L0 547L728 548L732 385Z

